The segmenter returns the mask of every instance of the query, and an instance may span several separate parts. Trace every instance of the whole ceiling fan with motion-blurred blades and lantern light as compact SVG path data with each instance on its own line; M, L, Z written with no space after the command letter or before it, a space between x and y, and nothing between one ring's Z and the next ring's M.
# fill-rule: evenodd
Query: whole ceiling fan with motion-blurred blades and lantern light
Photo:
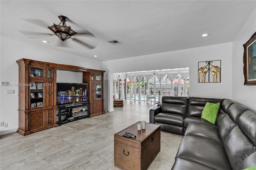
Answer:
M95 36L88 32L87 30L84 32L75 32L74 30L71 29L70 26L66 26L66 21L68 21L69 19L66 16L58 16L58 18L60 19L60 24L53 24L52 26L47 26L47 24L42 21L42 20L34 20L34 19L23 19L27 22L30 22L32 24L36 24L39 26L43 26L44 28L47 26L56 36L58 36L58 38L60 38L60 40L62 40L62 42L59 43L58 46L62 46L62 47L67 47L67 44L63 43L64 41L71 39L76 43L79 43L80 45L83 45L89 49L93 49L96 47L96 43L92 43L92 42L84 42L83 40L80 40L78 38L74 38L72 36L74 35L86 35L87 37L96 39ZM74 22L72 22L70 20L71 23L75 24ZM78 25L78 24L76 24ZM20 33L26 35L26 36L46 36L46 35L50 35L53 36L54 34L49 34L49 33L40 33L40 32L29 32L29 31L19 31Z

